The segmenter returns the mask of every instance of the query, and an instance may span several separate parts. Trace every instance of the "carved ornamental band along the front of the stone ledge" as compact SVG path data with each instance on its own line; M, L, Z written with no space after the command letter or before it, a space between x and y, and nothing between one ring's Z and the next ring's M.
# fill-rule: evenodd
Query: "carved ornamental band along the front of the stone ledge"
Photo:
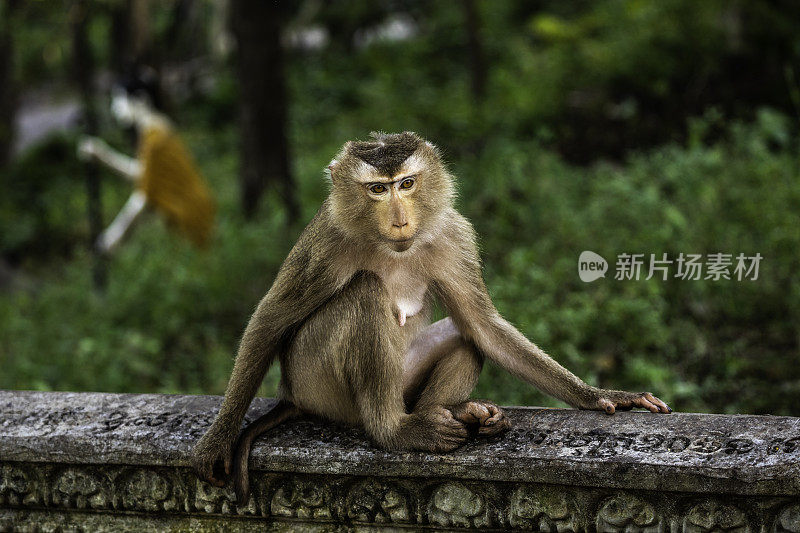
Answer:
M0 463L0 531L17 529L3 522L5 510L46 510L559 533L800 533L800 501L788 497L266 472L254 472L251 486L238 506L230 488L186 468Z

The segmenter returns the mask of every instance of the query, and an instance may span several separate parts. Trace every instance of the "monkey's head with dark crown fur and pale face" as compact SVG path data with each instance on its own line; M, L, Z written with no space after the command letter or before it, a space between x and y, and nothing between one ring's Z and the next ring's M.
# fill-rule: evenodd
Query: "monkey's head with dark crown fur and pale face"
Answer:
M372 133L345 143L328 166L329 206L345 234L360 242L411 248L452 206L453 178L439 150L413 132Z

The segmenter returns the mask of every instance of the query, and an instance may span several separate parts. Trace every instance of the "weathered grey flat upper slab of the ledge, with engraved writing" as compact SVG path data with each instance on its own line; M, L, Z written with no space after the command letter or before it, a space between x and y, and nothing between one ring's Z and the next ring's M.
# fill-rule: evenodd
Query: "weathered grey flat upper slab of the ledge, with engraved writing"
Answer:
M0 392L0 458L188 466L213 396ZM273 400L256 399L248 418ZM284 424L253 451L258 470L800 495L800 418L511 408L513 430L453 453L388 453L358 429Z

